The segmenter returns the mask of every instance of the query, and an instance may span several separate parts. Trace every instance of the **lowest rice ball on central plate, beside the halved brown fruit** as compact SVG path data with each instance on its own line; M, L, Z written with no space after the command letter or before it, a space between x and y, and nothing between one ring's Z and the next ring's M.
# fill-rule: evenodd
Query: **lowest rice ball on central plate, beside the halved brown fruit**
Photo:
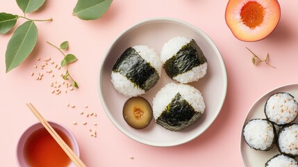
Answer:
M157 124L171 131L179 131L202 116L205 103L196 88L170 83L158 91L152 109Z

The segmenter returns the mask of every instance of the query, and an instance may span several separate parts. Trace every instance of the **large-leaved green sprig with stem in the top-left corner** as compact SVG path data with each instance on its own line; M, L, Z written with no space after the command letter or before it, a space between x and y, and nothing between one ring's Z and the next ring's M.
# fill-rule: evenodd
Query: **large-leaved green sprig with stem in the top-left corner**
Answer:
M21 64L33 51L38 41L38 28L35 22L48 22L53 19L29 19L26 13L38 10L45 0L17 0L17 5L24 13L24 16L9 13L0 13L0 34L8 33L17 23L17 19L22 18L28 21L17 27L10 38L6 48L6 73Z

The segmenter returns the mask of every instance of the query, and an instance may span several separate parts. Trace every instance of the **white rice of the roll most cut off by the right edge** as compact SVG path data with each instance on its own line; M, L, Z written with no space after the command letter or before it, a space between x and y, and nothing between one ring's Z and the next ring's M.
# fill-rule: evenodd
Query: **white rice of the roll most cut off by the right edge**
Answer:
M279 133L278 145L284 154L298 155L298 125L284 127Z

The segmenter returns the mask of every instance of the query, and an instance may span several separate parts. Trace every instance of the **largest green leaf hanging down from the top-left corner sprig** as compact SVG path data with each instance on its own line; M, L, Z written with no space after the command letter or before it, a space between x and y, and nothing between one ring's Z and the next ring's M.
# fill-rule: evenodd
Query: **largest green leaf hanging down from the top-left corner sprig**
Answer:
M31 54L38 41L38 28L33 21L19 26L10 38L6 48L6 72L17 67Z

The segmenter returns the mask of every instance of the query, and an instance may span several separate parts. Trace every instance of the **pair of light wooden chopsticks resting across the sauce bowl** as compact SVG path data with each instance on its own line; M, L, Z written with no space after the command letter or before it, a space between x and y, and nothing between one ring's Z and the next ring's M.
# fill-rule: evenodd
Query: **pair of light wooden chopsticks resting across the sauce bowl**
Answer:
M79 167L86 167L85 164L83 163L83 161L81 161L81 159L76 154L74 154L72 149L69 148L69 146L65 143L65 141L63 141L63 139L59 136L59 134L57 134L57 132L53 129L53 127L51 127L51 125L49 125L49 122L47 122L47 120L45 120L42 117L42 115L40 115L40 113L38 112L37 109L35 109L33 104L27 103L26 105L33 112L33 114L36 116L36 118L38 118L38 120L40 120L40 123L42 123L42 125L47 129L47 131L51 134L51 136L53 136L55 141L65 151L65 153L68 155L68 157L70 159L72 159L74 164L76 164L76 166L79 166Z

